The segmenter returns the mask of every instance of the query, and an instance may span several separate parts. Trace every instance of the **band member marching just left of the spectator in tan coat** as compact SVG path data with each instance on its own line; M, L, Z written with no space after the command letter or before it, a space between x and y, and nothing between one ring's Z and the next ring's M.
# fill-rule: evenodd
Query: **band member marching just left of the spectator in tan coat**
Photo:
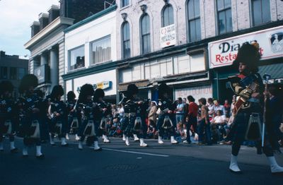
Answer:
M126 135L125 143L129 146L129 136L139 135L139 145L146 147L144 143L145 120L141 119L141 106L143 102L137 100L139 89L136 85L130 84L127 87L127 97L123 98L120 104L123 105L125 114L123 117L122 130Z

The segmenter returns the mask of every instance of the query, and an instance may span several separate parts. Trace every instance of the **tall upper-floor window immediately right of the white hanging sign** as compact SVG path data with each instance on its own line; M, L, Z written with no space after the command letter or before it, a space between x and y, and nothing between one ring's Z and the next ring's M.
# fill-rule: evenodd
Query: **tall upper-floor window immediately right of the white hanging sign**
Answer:
M190 42L201 40L200 0L187 1L188 32Z

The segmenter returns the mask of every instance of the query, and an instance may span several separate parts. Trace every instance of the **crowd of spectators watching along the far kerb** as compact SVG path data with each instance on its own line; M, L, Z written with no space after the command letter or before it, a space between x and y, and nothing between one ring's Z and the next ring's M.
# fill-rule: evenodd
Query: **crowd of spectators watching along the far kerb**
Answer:
M272 100L272 97L271 97ZM212 98L201 98L198 104L194 97L178 97L175 100L175 139L180 143L198 143L199 145L231 144L231 138L227 137L231 131L234 120L234 104L236 96L224 101L221 105L219 100ZM276 106L276 105L275 105ZM146 138L158 138L156 129L158 114L158 103L149 100L146 109ZM108 136L122 137L121 123L124 116L122 105L112 105L112 119L108 121ZM282 115L281 115L282 116ZM277 127L278 128L278 127ZM282 128L283 129L283 125ZM279 143L282 145L282 133L277 129ZM245 141L244 145L255 146L254 142Z

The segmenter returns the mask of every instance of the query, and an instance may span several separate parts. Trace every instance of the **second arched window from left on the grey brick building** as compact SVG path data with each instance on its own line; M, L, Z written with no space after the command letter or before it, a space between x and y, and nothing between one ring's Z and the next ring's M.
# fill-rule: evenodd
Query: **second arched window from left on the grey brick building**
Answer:
M146 54L151 51L150 42L150 22L149 15L144 14L141 17L141 54Z

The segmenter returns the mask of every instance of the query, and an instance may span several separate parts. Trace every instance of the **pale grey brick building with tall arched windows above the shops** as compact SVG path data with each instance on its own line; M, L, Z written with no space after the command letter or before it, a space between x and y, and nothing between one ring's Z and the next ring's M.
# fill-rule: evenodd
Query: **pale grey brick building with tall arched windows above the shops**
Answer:
M163 82L173 88L174 99L187 95L196 99L230 99L227 79L236 71L231 67L233 59L226 65L222 64L224 61L220 61L220 66L213 65L216 50L221 50L219 44L230 41L229 49L233 48L230 55L233 55L238 51L233 42L241 46L255 37L270 37L269 41L258 39L263 46L272 44L275 37L278 42L282 40L283 1L279 0L118 0L116 3L117 47L120 47L117 48L118 90L122 92L129 83L135 83L141 89L141 96L151 99L156 99L156 86ZM258 35L261 30L267 34ZM272 68L282 65L282 52L276 53L268 59L262 58L260 73L270 65ZM227 54L229 57L228 51ZM278 71L273 72L278 76Z

